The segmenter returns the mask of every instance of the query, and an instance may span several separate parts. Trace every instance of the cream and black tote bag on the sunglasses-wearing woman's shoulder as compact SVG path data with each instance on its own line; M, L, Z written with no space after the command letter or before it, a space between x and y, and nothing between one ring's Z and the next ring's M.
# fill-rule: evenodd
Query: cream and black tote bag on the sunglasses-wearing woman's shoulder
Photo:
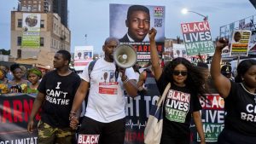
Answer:
M158 99L156 105L152 105L146 128L144 130L145 144L159 144L163 129L163 101L166 99L167 91L171 88L171 83L167 84L162 96Z

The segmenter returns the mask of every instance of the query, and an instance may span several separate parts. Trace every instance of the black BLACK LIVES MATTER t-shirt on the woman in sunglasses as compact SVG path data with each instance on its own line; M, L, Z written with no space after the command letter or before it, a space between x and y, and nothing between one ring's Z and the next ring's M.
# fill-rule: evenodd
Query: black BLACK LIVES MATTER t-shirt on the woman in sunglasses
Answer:
M161 75L157 81L160 94L169 82ZM163 135L174 138L188 138L192 112L201 110L199 98L187 86L178 87L171 84L164 106Z

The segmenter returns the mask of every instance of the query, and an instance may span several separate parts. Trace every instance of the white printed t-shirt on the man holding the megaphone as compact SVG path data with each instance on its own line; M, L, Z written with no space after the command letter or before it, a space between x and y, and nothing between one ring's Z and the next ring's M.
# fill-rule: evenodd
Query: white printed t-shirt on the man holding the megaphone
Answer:
M88 65L89 66L89 65ZM81 78L90 82L90 93L85 116L102 123L125 118L125 94L120 76L115 80L115 65L101 58L96 61L90 78L85 66ZM133 68L126 68L125 75L136 79Z

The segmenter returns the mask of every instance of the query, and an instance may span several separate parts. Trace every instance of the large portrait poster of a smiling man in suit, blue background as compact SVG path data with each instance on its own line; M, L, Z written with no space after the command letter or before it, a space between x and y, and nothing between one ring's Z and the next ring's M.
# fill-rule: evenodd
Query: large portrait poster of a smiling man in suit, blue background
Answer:
M157 49L161 54L165 41L164 6L110 4L110 36L119 38L121 44L131 44L137 51L137 61L150 60L148 31L157 30Z

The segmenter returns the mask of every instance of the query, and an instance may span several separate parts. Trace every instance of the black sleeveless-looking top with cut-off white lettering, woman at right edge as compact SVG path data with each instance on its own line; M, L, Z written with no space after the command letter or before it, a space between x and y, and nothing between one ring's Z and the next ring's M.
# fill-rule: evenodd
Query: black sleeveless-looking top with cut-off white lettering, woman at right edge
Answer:
M227 112L224 127L243 135L256 136L256 94L248 92L242 84L230 82L230 94L224 99Z

